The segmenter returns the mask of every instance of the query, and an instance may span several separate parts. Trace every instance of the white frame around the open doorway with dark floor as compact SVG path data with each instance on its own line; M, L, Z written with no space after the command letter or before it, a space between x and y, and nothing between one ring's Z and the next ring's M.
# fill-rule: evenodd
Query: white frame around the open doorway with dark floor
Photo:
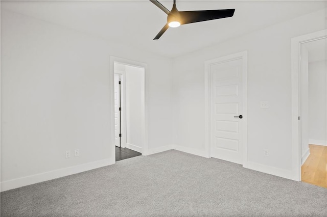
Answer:
M148 65L133 60L110 56L110 131L111 131L111 157L115 160L115 141L114 141L114 63L121 63L137 68L144 68L143 95L142 95L142 155L148 154ZM125 79L126 80L126 79ZM124 86L126 90L126 86ZM126 91L125 91L126 92ZM126 100L126 98L124 99ZM125 101L126 102L126 101ZM125 103L126 104L126 103ZM124 113L126 115L126 112ZM125 119L126 120L126 119ZM126 127L126 125L125 125Z

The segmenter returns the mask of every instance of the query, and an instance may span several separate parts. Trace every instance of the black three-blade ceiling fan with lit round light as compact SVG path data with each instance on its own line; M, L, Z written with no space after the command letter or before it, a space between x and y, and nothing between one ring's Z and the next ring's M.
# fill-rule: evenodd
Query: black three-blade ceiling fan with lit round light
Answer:
M150 0L158 8L168 14L167 23L160 30L158 35L153 40L159 39L162 34L168 30L169 27L175 28L183 24L202 22L213 19L221 19L226 17L232 17L235 9L224 9L224 10L205 10L205 11L178 11L176 8L176 1L174 1L173 8L169 11L165 6L161 5L156 0Z

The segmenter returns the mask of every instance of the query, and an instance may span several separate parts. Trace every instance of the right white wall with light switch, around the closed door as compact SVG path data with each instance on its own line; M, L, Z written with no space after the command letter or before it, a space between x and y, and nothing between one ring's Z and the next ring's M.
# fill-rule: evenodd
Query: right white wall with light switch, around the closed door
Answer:
M251 168L291 178L291 38L325 28L320 10L175 58L174 144L203 152L204 61L247 50L248 160Z

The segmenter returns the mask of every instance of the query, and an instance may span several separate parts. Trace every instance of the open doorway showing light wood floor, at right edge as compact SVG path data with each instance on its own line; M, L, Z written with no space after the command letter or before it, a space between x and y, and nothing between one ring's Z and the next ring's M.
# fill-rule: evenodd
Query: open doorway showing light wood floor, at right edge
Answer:
M300 45L301 181L327 187L327 38Z

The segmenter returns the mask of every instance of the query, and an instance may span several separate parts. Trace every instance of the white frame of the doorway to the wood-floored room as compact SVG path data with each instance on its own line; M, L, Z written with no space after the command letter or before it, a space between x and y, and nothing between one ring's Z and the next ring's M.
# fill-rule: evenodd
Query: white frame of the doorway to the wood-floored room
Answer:
M301 129L298 120L300 117L300 48L301 44L323 38L327 38L327 29L291 39L292 180L295 181L301 181Z

